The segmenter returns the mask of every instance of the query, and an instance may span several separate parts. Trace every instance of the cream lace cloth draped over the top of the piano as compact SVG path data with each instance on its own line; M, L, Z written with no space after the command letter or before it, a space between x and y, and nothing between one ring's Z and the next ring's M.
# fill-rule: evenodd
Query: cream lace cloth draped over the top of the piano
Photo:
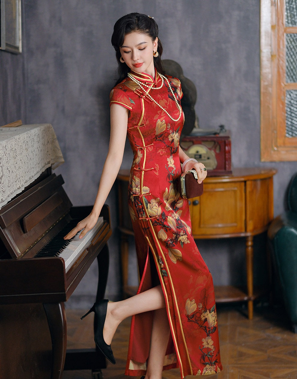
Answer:
M50 124L0 128L0 208L48 167L64 162Z

